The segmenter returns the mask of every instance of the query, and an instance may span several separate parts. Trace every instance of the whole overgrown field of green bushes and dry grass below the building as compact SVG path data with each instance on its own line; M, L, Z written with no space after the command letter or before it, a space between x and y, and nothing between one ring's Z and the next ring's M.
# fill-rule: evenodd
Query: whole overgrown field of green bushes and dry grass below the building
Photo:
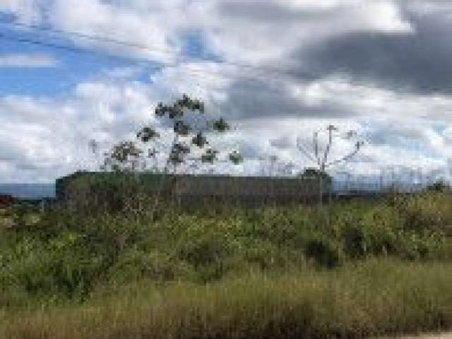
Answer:
M162 208L157 218L145 206L39 218L3 211L0 338L362 338L452 328L446 192L324 209Z

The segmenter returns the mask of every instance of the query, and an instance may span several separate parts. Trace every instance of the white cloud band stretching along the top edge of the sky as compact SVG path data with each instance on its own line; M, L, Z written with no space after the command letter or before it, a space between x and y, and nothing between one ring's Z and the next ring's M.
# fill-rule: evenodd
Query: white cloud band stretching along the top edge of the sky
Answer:
M29 22L43 17L42 4L4 0L0 10ZM202 35L225 60L253 64L287 57L293 49L347 32L412 32L398 1L390 0L268 0L263 6L261 1L236 0L54 0L45 4L45 17L54 28L129 44L68 35L83 47L164 63L182 57L184 35L190 32ZM249 11L250 6L259 10ZM275 6L278 11L273 11Z

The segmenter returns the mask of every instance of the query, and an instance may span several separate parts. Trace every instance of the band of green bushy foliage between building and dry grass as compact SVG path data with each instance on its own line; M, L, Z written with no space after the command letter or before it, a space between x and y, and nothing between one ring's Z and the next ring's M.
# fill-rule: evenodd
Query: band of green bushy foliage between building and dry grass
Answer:
M138 218L130 206L103 214L49 210L35 225L4 230L0 281L16 291L16 303L23 293L83 301L96 285L142 278L207 283L249 270L336 268L379 256L450 260L448 199L406 198L398 208L338 203L328 218L309 206L195 214L167 209L158 221L146 213ZM17 213L16 220L27 219L27 210Z

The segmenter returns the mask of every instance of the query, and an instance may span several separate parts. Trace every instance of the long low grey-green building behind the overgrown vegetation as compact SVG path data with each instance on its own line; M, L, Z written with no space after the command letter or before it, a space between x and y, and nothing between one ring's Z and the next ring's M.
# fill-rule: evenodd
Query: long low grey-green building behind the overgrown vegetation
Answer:
M328 184L323 183L323 191ZM261 203L266 201L302 202L319 196L319 179L299 177L232 177L227 175L132 174L114 172L76 172L56 182L59 201L83 201L97 197L104 201L118 193L138 191L176 199L184 205L204 201ZM90 199L92 201L92 199Z

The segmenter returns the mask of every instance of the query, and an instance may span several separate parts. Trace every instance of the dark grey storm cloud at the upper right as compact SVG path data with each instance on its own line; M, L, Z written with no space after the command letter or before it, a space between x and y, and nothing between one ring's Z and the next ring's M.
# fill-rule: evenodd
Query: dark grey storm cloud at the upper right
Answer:
M319 78L347 73L357 81L403 92L451 93L452 20L444 13L405 15L414 34L350 32L333 37L300 48L293 55L298 69L314 71Z

